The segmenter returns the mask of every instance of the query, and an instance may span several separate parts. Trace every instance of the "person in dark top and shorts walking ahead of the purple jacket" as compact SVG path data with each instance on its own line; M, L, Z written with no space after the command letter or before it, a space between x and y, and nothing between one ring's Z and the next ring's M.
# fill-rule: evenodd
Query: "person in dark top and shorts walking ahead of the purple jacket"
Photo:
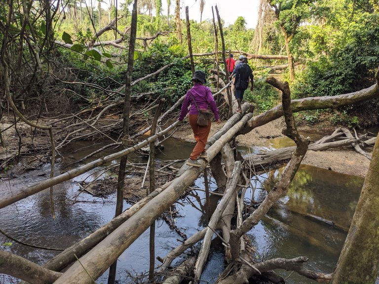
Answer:
M243 100L243 94L249 86L249 78L251 81L250 90L253 91L254 75L250 66L247 64L247 58L242 59L242 63L234 68L233 74L235 74L234 86L235 86L235 98L237 99L238 108L237 112L242 112L241 102Z

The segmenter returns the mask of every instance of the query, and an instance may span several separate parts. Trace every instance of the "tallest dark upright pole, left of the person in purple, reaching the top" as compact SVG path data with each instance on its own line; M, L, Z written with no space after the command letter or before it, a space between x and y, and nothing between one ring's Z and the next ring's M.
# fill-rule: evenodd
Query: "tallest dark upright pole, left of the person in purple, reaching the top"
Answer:
M117 13L117 7L116 7ZM117 18L116 18L117 27ZM132 83L132 73L134 64L134 49L136 43L137 34L137 0L134 0L133 11L132 11L132 22L130 27L130 40L129 40L129 54L128 54L128 67L126 70L125 79L125 102L123 111L123 124L122 124L122 134L123 146L126 148L127 141L129 140L129 116L130 116L130 93L131 93L131 83ZM117 35L117 31L116 31ZM118 179L117 179L117 200L116 200L116 211L115 216L122 213L122 207L124 202L124 181L125 181L125 169L128 156L125 155L121 157L120 166L118 169ZM117 259L109 268L108 284L114 284L116 278L117 269Z

